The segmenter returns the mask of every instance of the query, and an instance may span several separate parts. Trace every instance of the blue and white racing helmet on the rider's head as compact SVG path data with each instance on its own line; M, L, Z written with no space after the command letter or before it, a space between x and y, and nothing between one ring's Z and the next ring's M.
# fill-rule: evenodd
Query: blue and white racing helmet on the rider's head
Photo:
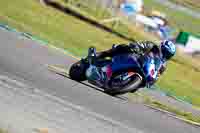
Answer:
M163 58L166 60L169 60L172 58L176 53L176 46L172 41L162 41L160 45L161 53L163 55Z

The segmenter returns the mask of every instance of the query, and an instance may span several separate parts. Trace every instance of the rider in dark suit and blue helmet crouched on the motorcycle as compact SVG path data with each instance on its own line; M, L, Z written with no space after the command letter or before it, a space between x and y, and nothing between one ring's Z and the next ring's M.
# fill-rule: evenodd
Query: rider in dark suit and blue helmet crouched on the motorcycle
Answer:
M155 65L157 66L158 74L157 78L162 74L166 69L166 62L171 59L176 53L176 47L173 42L165 40L162 41L158 46L153 42L144 41L144 42L132 42L128 45L119 44L113 45L112 49L96 53L94 47L89 48L88 50L88 60L90 63L89 69L86 71L86 76L95 80L99 85L104 86L110 80L113 72L123 69L120 66L120 63L131 65L131 58L142 57L148 53L149 58L154 58ZM104 66L103 68L98 68L95 65L95 58L104 58L104 57L116 57L119 56L118 61L113 61L109 65ZM143 58L137 58L140 64L143 63ZM126 67L126 65L123 67ZM103 81L103 82L102 82ZM152 82L152 84L155 81ZM104 85L102 83L105 83Z

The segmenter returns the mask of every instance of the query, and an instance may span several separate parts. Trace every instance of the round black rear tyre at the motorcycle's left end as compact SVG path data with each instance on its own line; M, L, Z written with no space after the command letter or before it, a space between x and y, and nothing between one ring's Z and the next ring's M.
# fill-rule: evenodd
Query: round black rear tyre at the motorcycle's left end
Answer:
M70 67L69 76L72 80L84 81L86 80L85 71L86 67L79 61Z

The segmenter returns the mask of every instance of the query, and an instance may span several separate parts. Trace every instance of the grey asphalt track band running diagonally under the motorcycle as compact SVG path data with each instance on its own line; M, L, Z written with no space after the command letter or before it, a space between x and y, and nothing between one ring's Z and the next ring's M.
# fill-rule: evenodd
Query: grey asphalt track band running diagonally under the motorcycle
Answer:
M76 59L16 33L0 30L0 72L48 94L119 121L144 133L199 133L200 128L141 104L108 96L90 86L56 75L47 65L70 66Z

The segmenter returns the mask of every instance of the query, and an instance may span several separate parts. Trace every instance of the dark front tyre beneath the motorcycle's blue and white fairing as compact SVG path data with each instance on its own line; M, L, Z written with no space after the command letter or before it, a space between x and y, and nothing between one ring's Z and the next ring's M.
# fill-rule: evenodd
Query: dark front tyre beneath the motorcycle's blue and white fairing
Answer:
M132 80L127 85L125 85L123 88L121 88L121 87L113 88L111 86L111 89L105 89L105 92L107 94L112 95L112 96L121 95L121 94L125 94L125 93L128 93L128 92L133 93L133 92L136 92L139 89L141 84L142 84L141 77L139 75L134 75Z

